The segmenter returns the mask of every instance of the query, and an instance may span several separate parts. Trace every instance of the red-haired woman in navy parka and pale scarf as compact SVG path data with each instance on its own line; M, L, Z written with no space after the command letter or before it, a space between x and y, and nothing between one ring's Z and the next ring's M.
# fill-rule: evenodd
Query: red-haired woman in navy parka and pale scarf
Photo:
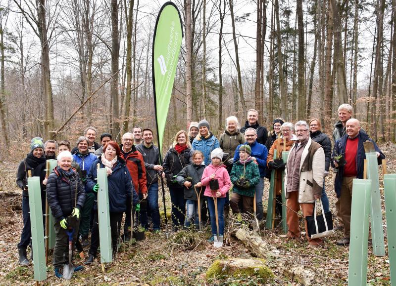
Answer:
M132 178L125 161L121 158L121 150L114 141L108 142L104 148L104 153L95 161L87 176L87 187L95 194L98 193L99 184L97 183L97 168L105 168L108 183L108 200L110 212L110 229L113 256L116 254L118 247L118 238L120 237L122 215L127 210L127 200L132 200L132 204L139 210L140 204L138 194L136 193ZM91 235L91 247L89 258L86 263L92 263L96 257L99 246L99 223L98 223L98 205L94 205L95 218Z

